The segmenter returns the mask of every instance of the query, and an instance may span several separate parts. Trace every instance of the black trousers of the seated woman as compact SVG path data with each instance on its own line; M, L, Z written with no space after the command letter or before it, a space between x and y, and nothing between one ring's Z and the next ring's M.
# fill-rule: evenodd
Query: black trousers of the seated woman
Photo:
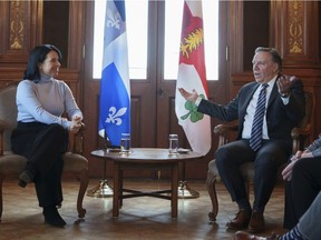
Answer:
M68 149L68 131L56 123L18 122L11 149L28 159L26 170L35 176L39 206L61 204L62 154Z

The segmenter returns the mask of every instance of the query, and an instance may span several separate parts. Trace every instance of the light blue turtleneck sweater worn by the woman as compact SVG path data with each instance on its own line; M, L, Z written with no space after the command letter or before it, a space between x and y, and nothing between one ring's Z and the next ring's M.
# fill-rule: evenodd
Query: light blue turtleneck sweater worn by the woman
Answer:
M70 129L72 116L80 116L70 88L60 80L41 74L38 83L22 80L17 90L18 121L59 123ZM61 117L66 112L67 118Z

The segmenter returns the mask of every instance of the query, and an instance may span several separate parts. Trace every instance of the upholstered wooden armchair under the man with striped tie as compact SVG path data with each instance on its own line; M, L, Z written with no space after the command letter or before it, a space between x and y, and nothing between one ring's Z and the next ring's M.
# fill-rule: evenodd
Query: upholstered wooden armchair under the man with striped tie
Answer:
M293 139L293 144L292 144L292 152L295 153L299 149L303 149L307 147L310 142L310 133L312 130L311 127L311 119L312 119L312 113L314 110L314 98L311 92L305 92L305 117L301 121L300 126L298 128L292 129L292 139ZM236 137L236 131L237 131L237 124L217 124L214 128L214 133L218 136L218 146L227 143L231 139ZM281 172L284 169L286 164L283 164L279 168L279 181L282 181ZM253 162L246 162L241 166L241 172L243 176L243 179L246 184L246 190L247 194L250 194L250 187L251 183L253 183L254 179L254 163ZM207 179L206 179L206 184L207 184L207 190L208 194L212 201L212 211L208 213L208 218L211 221L216 220L216 216L218 213L218 201L217 201L217 196L216 196L216 187L215 183L221 181L220 174L216 168L215 159L210 161L208 163L208 171L207 171Z

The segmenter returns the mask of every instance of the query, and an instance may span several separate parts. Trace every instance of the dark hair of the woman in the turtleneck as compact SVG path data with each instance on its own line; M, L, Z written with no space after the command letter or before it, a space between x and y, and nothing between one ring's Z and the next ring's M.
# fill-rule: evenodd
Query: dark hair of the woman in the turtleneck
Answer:
M28 79L36 82L40 80L39 63L42 63L46 60L47 54L50 51L56 51L58 54L59 62L61 61L62 54L60 50L55 46L51 44L37 46L30 52L28 66L23 73L23 79Z

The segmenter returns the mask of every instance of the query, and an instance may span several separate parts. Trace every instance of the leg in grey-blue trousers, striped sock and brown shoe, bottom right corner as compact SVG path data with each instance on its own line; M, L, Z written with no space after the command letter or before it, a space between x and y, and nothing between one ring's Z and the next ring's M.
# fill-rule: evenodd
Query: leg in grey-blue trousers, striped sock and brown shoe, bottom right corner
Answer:
M321 236L321 192L317 196L308 211L300 218L300 221L289 232L276 236L272 233L270 237L263 238L239 231L234 236L234 240L319 240Z

